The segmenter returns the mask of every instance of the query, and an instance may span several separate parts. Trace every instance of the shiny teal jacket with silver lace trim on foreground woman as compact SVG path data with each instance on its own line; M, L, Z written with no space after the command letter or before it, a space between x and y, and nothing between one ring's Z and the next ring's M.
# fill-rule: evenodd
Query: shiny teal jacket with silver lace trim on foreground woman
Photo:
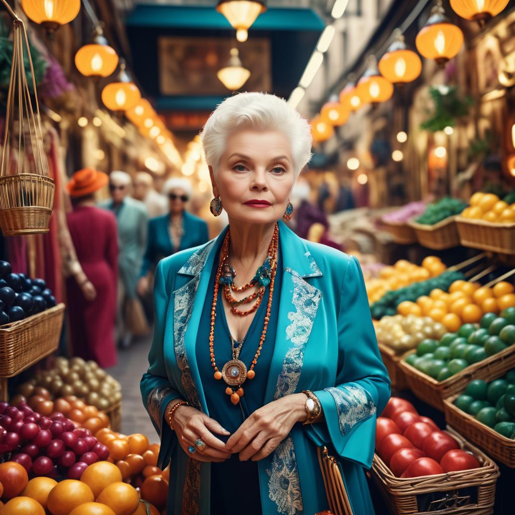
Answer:
M156 270L155 333L141 392L161 436L159 465L171 459L168 515L212 512L210 464L188 457L163 417L167 404L179 397L209 415L195 345L203 303L211 298L211 267L226 231L162 260ZM284 275L265 403L312 390L324 421L296 424L259 461L263 513L314 515L328 509L316 453L316 445L326 444L340 461L355 515L370 515L364 469L372 464L375 420L390 396L390 380L377 348L361 268L355 258L304 241L282 221L279 244ZM199 344L208 348L207 341Z

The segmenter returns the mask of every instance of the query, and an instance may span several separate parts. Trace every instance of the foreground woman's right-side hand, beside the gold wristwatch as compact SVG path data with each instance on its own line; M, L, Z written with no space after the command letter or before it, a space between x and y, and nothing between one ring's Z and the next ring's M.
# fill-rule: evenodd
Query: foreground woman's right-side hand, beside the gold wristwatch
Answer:
M294 393L256 409L236 433L226 448L239 452L239 459L258 461L266 458L288 436L297 422L306 420L306 395Z

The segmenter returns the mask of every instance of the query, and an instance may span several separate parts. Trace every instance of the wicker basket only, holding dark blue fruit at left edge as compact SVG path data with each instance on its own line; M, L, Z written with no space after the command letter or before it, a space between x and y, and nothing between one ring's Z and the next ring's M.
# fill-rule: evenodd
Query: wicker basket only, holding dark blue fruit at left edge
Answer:
M0 377L12 377L59 346L64 304L0 327Z

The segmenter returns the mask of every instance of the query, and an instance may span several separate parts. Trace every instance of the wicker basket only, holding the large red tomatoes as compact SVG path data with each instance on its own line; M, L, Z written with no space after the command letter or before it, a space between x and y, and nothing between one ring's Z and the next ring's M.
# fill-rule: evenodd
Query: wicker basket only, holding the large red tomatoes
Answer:
M495 501L499 468L479 449L450 427L447 432L460 447L472 451L481 468L402 479L394 476L374 454L371 476L392 515L490 515Z

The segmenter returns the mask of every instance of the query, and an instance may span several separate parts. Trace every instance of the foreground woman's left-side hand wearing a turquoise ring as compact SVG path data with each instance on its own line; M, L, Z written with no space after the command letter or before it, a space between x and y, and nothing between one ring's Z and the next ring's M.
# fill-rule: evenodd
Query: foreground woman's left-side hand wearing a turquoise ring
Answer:
M168 411L168 408L167 410ZM179 406L173 415L174 431L177 434L182 450L190 457L198 461L225 461L231 457L227 451L226 444L216 438L217 435L230 435L216 420L191 406ZM207 447L200 452L195 447L195 441L200 438ZM196 452L193 454L188 451L188 447L193 445Z

